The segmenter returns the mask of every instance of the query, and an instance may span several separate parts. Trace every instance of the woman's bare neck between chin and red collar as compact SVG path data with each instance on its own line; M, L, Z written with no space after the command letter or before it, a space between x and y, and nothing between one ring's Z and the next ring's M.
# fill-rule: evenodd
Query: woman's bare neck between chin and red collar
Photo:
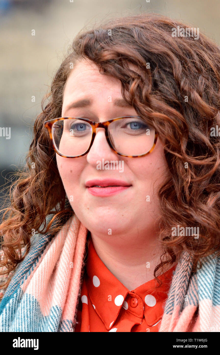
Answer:
M103 237L91 232L91 238L101 261L129 291L154 279L163 253L156 234ZM174 264L167 265L164 272Z

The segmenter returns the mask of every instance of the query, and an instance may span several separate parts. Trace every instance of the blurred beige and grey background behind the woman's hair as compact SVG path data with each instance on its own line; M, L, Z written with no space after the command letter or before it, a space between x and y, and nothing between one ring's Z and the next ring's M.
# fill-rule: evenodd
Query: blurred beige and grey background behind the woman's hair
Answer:
M147 1L0 0L0 134L10 127L10 139L0 136L0 209L2 185L25 164L41 99L81 29L113 16L155 12L199 27L220 44L219 0Z

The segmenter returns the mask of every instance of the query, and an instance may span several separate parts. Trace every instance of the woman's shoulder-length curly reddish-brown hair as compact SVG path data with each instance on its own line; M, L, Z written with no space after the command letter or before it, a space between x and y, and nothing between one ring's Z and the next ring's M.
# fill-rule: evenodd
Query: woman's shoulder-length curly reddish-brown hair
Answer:
M171 176L158 190L158 237L164 254L154 276L165 264L177 261L182 251L193 256L193 271L202 257L220 255L220 140L210 135L211 127L220 127L220 48L201 33L197 39L173 37L177 26L188 27L147 13L115 18L75 37L41 102L26 167L10 188L10 205L0 225L4 273L13 271L28 253L33 229L45 234L58 216L74 213L64 205L66 193L44 122L61 116L70 64L74 67L81 59L91 60L101 74L120 80L123 98L163 142ZM47 223L51 213L54 216ZM171 235L176 225L199 227L199 238ZM57 223L53 233L60 228ZM9 281L0 287L7 287Z

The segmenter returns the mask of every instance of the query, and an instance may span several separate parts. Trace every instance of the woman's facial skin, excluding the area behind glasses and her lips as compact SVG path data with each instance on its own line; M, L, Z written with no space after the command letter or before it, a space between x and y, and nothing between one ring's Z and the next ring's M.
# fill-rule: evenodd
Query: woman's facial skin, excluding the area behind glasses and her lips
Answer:
M119 99L121 102L114 104ZM90 104L80 103L81 100L89 100ZM69 108L72 104L75 107ZM100 74L90 61L78 62L64 89L62 117L77 116L101 122L132 115L137 116L137 113L132 106L123 103L119 80ZM132 231L137 233L137 229L146 233L156 228L154 221L159 213L156 189L168 173L159 139L152 153L140 158L126 158L112 151L104 129L98 128L88 154L72 159L56 154L56 159L69 202L79 220L92 233L125 235L132 234ZM102 159L124 161L123 172L98 169L97 161L102 162ZM117 179L129 187L119 188L119 192L109 195L104 192L105 196L100 196L91 193L86 186L86 182L93 179Z

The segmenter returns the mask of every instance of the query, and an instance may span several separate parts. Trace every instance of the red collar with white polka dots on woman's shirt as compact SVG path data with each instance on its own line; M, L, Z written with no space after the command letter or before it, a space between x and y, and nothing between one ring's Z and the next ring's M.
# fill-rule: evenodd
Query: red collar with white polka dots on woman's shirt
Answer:
M120 296L125 300L126 296L132 293L141 297L144 305L144 316L148 326L153 326L163 316L164 302L175 271L176 265L164 274L160 275L163 284L159 289L153 289L158 285L155 279L140 285L138 288L129 291L105 266L97 255L91 235L88 235L88 258L86 262L86 287L88 295L97 315L101 318L109 330L117 319L123 303L115 307L115 297ZM118 299L120 299L118 297ZM135 295L134 295L135 297ZM157 307L153 306L152 300L156 300Z

